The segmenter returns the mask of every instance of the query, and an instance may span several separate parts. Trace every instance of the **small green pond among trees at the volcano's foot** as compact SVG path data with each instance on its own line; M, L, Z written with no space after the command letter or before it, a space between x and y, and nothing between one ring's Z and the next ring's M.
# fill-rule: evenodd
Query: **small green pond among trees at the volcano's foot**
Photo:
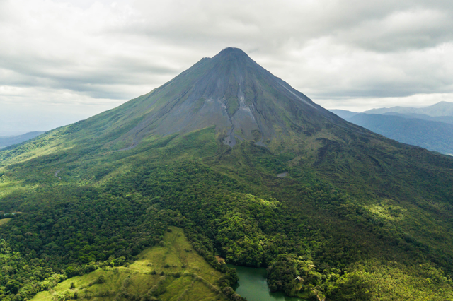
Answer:
M234 290L248 301L304 301L296 297L287 297L280 292L270 293L265 268L248 268L232 264L228 266L235 268L239 276L239 284Z

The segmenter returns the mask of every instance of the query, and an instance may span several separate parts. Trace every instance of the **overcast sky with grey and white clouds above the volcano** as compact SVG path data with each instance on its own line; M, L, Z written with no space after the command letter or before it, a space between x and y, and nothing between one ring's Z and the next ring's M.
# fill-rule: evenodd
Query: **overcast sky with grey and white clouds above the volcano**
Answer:
M0 0L0 136L85 119L239 47L328 109L453 102L451 0Z

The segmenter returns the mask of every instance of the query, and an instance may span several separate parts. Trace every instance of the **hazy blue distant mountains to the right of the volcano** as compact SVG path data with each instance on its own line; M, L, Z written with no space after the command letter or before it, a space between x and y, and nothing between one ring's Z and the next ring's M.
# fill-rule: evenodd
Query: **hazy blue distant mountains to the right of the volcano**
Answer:
M453 102L388 107L365 112L331 110L339 117L396 141L453 154Z

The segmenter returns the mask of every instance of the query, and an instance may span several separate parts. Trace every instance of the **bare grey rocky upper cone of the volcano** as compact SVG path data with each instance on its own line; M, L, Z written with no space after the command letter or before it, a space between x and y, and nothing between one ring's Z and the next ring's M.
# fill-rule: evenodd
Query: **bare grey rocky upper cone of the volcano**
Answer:
M127 128L111 142L122 149L137 146L147 136L184 134L210 126L228 146L253 141L270 149L303 143L301 137L329 126L363 132L231 47L200 60L150 93L88 120L103 129L110 124ZM112 126L107 131L113 131Z

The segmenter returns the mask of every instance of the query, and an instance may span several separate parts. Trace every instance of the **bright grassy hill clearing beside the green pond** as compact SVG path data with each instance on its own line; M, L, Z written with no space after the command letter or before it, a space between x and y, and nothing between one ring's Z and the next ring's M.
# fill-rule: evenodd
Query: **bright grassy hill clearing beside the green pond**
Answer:
M222 273L195 252L182 229L170 230L134 264L69 278L33 300L226 300L216 285Z

